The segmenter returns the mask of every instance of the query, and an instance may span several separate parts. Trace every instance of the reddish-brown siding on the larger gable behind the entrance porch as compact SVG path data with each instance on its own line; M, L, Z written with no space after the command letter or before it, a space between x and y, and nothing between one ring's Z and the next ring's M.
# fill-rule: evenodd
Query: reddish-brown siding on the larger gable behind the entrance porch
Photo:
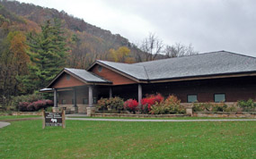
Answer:
M127 77L124 77L123 75L120 75L119 73L115 71L111 71L108 68L105 68L102 66L102 71L98 71L98 64L96 64L91 71L99 76L101 76L104 79L108 79L113 82L113 85L127 85L127 84L133 84L137 83L136 81L132 79L128 79Z

